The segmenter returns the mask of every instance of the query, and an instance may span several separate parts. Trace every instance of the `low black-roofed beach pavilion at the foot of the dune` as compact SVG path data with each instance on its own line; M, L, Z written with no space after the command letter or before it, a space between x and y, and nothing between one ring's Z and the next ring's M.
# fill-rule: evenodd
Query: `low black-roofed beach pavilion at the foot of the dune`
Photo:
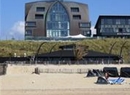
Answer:
M80 45L79 47L83 47ZM60 46L60 50L38 54L36 61L39 63L47 64L76 64L75 44ZM86 47L88 48L88 47ZM82 52L82 51L81 51ZM114 54L107 54L97 52L93 50L83 51L82 58L79 61L80 64L108 64L118 63L121 59L120 56Z

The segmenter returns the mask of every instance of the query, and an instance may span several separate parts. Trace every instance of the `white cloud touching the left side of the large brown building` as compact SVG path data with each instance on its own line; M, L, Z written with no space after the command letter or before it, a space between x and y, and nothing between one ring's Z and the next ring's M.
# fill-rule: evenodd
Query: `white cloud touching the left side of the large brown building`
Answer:
M24 21L17 21L11 28L10 35L15 39L23 39L24 37Z

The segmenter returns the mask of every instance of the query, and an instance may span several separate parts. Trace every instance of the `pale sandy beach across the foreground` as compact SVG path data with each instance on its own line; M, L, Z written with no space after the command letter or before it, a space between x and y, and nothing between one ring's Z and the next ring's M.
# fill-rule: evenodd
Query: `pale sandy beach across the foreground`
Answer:
M130 67L129 65L63 65L63 66L9 66L7 74L0 76L0 95L130 95L130 78L121 85L96 84L97 77L86 73L32 74L35 67L44 69L88 70L106 66Z

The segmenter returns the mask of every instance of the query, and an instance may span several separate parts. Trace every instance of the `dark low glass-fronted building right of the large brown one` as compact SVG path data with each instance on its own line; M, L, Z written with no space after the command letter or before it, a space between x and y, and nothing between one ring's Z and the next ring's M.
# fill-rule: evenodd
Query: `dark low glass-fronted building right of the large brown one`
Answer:
M130 38L130 16L101 15L95 29L96 37Z

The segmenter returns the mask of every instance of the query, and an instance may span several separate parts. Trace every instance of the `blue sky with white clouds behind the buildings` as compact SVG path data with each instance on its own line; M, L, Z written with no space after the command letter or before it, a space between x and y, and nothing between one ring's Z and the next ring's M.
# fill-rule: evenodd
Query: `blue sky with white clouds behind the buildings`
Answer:
M0 40L24 39L25 3L39 0L0 0ZM94 26L99 15L130 15L130 0L71 0L88 4Z

